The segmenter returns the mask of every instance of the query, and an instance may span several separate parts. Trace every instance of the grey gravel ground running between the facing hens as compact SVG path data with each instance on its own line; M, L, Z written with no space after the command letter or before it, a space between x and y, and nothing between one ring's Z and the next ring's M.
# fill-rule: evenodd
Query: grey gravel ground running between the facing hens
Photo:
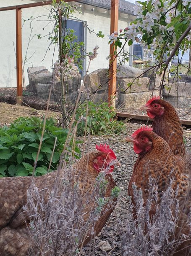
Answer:
M108 219L105 227L95 237L95 256L120 256L121 255L121 244L119 231L125 228L125 223L128 218L127 210L127 190L128 182L133 172L133 164L136 162L136 154L133 151L133 147L130 143L126 143L124 138L127 135L131 135L136 129L138 129L142 122L128 122L126 132L121 135L105 135L105 136L90 136L90 150L94 150L95 144L97 143L108 143L113 148L118 160L122 164L121 167L115 167L113 177L117 186L120 187L120 196L118 198L117 205L113 214ZM184 130L184 137L186 141L186 149L191 148L191 130ZM108 251L102 251L100 249L100 242L105 241L110 244ZM82 251L82 255L89 255L89 246Z

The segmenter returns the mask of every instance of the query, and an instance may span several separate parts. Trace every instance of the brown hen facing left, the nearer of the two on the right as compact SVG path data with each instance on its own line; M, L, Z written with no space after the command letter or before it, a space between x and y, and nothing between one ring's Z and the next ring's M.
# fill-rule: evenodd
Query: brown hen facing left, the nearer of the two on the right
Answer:
M178 239L181 234L186 234L189 237L180 245L178 254L175 255L191 255L191 252L189 252L191 251L190 227L187 222L191 209L191 191L188 176L180 171L168 143L155 134L151 127L141 127L131 137L127 137L126 141L133 143L133 149L138 154L128 186L128 196L132 197L132 202L135 205L132 189L132 183L135 183L143 191L143 198L146 203L149 197L149 177L151 177L156 181L158 195L161 198L170 184L170 180L173 180L172 189L174 191L178 189L177 199L179 199L180 205L175 238ZM155 205L152 205L150 215L155 214L155 211Z

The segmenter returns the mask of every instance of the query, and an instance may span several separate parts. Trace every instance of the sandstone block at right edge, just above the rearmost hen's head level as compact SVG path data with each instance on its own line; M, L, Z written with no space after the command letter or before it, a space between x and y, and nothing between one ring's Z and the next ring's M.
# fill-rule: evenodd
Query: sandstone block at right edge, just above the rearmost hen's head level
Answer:
M168 97L191 97L191 84L186 82L173 83L164 86L163 96Z

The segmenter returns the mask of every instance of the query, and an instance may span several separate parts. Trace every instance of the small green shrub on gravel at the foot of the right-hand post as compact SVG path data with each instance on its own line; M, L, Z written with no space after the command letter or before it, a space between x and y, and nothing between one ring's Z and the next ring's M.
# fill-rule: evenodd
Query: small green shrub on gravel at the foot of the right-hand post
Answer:
M76 125L81 116L86 116L86 105L80 105L76 111ZM115 111L108 106L107 102L95 104L88 102L88 116L87 116L87 133L92 135L102 134L119 134L125 129L125 124L122 121L117 121L115 118ZM77 135L84 135L86 121L81 120L77 127Z

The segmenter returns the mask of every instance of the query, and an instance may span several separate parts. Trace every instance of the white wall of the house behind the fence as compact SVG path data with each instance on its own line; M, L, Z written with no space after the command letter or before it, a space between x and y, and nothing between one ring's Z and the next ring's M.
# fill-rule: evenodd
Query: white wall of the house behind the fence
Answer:
M0 0L0 7L7 6L5 2L7 1ZM9 1L9 5L18 5L25 3L31 3L31 1ZM94 33L90 34L89 31L86 30L86 51L92 51L96 45L99 46L98 57L92 61L89 68L89 72L92 72L94 70L97 70L98 68L108 67L109 64L109 61L106 59L106 57L109 55L107 35L110 34L110 14L109 10L107 10L107 13L100 14L97 8L95 8L94 12L84 10L85 8L82 7L82 13L75 13L73 16L87 22L90 30L94 30L94 32L98 32L98 30L101 30L103 34L105 34L105 39L97 38L97 36ZM33 20L31 22L32 35L44 35L52 31L52 24L47 25L47 16L49 15L49 13L50 6L48 5L43 7L22 9L22 16L25 20L29 19L31 16L33 16L33 18L39 17L38 21ZM118 27L124 29L128 26L128 22L130 22L129 18L120 19L119 16ZM16 56L14 51L14 46L16 47L15 11L1 11L0 24L0 87L16 87ZM44 30L42 30L43 27ZM22 53L24 60L26 50L28 47L26 58L31 58L29 59L29 63L25 65L24 68L26 85L28 84L28 67L36 67L43 65L51 71L52 63L54 63L56 59L58 59L57 46L52 45L50 46L50 50L47 50L48 46L50 45L50 40L48 40L47 37L38 39L35 35L28 45L30 32L30 21L26 21L22 28ZM129 50L128 47L126 50Z

